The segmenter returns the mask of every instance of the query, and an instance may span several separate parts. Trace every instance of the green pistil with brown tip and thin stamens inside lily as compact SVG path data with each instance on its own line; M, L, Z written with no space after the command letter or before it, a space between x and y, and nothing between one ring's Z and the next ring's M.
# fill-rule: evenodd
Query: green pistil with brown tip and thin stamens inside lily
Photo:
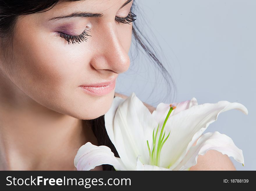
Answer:
M152 151L150 150L150 146L149 146L149 143L148 143L148 140L147 140L147 148L148 148L148 151L149 151L149 156L150 156L150 165L156 165L156 166L159 166L160 164L160 153L161 153L161 149L163 147L163 144L166 142L167 138L169 137L170 135L170 132L168 133L167 137L164 138L165 136L165 132L163 133L163 129L165 127L165 124L167 122L167 119L169 118L170 114L172 113L172 111L175 109L176 107L175 106L172 106L170 105L170 110L163 122L163 126L161 128L161 132L160 132L160 135L159 135L159 139L158 139L158 142L156 143L156 139L157 139L157 133L158 133L158 129L159 129L159 124L158 124L158 127L157 127L157 132L156 132L156 135L154 135L154 131L153 131L153 149ZM163 136L162 136L163 135ZM156 145L157 145L157 148L156 148Z

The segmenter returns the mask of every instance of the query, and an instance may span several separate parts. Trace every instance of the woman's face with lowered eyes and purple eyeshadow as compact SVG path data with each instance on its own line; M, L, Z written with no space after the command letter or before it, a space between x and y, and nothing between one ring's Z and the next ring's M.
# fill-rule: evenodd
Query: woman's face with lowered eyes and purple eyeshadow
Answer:
M41 105L78 119L104 115L114 97L89 94L81 85L112 81L130 65L132 23L115 21L126 17L133 1L85 0L59 2L43 13L19 16L13 38L13 58L1 60L6 76ZM101 17L58 18L72 13L98 13ZM87 40L74 44L61 33ZM61 33L60 33L61 32ZM61 37L62 36L62 37Z

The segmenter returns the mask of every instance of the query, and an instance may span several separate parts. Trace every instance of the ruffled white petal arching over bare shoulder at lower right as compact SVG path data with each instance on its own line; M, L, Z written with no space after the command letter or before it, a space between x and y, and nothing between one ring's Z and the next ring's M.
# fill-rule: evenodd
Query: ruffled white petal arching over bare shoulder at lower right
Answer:
M244 164L243 151L234 144L233 140L218 131L205 133L195 146L191 147L181 163L174 170L184 170L196 165L198 155L204 155L208 150L217 150L227 156L232 156L239 163Z

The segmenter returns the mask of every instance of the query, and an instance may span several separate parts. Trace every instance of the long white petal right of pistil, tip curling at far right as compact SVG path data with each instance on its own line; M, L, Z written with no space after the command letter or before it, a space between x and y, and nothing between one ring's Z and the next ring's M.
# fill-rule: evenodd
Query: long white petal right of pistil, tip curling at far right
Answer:
M231 109L238 109L245 114L248 113L246 107L241 103L219 101L218 103L194 105L170 116L165 130L166 132L171 130L171 133L163 145L160 166L173 170L209 124L215 122L220 113Z

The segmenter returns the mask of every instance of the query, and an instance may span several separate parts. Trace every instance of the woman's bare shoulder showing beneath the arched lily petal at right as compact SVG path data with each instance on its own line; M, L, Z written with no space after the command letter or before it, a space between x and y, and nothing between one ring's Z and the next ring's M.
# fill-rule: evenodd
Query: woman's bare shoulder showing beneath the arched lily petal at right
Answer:
M196 142L193 144L193 146ZM236 170L230 158L216 150L208 150L205 155L198 155L197 164L190 170Z

